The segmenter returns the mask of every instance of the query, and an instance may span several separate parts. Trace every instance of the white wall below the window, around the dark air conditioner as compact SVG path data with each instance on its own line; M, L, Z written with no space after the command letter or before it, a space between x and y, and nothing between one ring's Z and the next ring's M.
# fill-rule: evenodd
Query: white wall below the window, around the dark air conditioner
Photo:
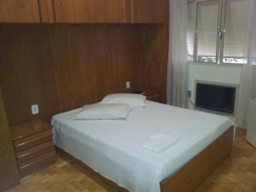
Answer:
M239 86L241 83L241 67L214 65L208 63L189 63L189 84L188 90L191 91L189 108L194 108L195 103L195 82L208 81L216 84L234 84Z

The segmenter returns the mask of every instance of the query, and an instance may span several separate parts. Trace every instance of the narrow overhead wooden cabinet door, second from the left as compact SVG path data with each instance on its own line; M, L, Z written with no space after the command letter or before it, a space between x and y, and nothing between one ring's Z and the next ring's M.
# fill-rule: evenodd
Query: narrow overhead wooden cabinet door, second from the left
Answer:
M38 0L39 11L42 23L54 23L55 13L53 0Z

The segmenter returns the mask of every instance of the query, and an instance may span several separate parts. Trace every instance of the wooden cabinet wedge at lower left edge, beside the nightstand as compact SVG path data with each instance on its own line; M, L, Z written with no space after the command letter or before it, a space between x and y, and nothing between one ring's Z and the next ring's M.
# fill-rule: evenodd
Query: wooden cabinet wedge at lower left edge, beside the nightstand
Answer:
M19 183L14 148L9 135L9 125L0 87L0 191Z

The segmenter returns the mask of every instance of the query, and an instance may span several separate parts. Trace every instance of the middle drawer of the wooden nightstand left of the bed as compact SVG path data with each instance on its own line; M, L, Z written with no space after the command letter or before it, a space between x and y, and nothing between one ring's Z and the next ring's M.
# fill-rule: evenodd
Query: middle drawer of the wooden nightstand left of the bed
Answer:
M34 157L37 157L41 154L47 153L51 150L54 150L55 146L52 141L41 143L38 146L35 146L33 148L27 148L25 150L22 150L20 152L16 153L16 158L18 162L22 162L24 160L29 160Z

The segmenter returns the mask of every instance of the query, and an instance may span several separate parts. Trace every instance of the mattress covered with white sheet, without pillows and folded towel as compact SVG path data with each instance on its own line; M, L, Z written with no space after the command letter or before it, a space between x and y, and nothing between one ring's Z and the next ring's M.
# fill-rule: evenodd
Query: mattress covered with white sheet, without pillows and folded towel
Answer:
M160 192L161 181L233 125L224 116L149 101L127 120L74 119L81 110L53 116L55 145L130 192ZM180 139L162 154L141 147L161 132Z

